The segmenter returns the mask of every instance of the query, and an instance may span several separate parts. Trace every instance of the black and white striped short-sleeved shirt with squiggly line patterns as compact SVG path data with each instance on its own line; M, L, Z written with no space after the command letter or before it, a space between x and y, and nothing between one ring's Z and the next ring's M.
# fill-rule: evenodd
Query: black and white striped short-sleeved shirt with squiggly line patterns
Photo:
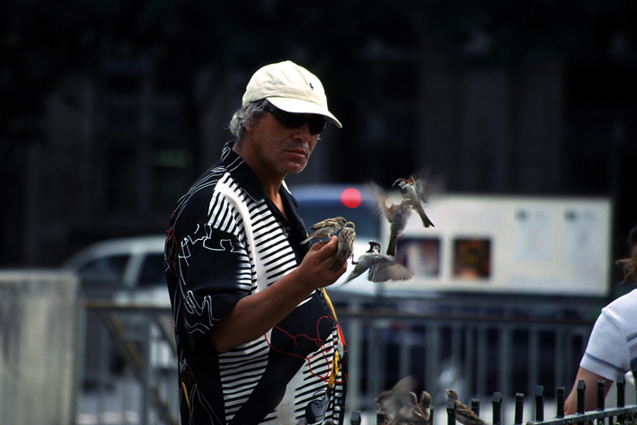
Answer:
M307 252L296 199L283 185L287 219L232 146L179 200L166 235L181 423L342 423L346 350L324 290L255 341L226 353L209 341L239 299L294 270Z

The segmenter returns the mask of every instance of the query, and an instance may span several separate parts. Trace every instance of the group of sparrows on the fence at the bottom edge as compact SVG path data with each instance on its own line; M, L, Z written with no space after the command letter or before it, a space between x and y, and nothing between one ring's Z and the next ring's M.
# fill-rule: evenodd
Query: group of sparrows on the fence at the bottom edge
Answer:
M387 390L378 394L376 403L385 412L385 425L430 425L431 424L431 395L423 391L420 400L413 392L416 380L413 376L403 377ZM463 425L485 425L477 413L463 403L453 390L445 390L449 403L456 405L456 420Z

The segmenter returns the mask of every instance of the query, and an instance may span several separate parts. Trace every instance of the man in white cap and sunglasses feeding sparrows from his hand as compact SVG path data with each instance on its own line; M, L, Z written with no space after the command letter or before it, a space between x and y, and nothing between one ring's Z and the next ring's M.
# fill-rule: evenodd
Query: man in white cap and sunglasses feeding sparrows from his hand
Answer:
M286 61L246 87L221 160L180 199L166 236L181 423L342 423L345 342L324 287L336 237L307 248L284 178L328 122L323 85Z

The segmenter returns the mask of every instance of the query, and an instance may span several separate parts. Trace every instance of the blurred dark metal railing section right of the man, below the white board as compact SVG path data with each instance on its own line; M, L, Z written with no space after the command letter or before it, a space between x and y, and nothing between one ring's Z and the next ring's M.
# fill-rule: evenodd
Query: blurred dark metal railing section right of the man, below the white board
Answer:
M350 298L337 308L352 410L375 409L376 395L408 375L438 404L447 403L445 388L483 398L572 385L599 308L496 297L370 301Z

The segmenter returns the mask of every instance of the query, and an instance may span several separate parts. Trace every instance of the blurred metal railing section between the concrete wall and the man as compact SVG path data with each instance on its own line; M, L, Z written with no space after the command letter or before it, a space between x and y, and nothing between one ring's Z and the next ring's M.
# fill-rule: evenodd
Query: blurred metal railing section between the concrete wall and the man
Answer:
M87 300L78 345L76 425L177 425L170 306Z

